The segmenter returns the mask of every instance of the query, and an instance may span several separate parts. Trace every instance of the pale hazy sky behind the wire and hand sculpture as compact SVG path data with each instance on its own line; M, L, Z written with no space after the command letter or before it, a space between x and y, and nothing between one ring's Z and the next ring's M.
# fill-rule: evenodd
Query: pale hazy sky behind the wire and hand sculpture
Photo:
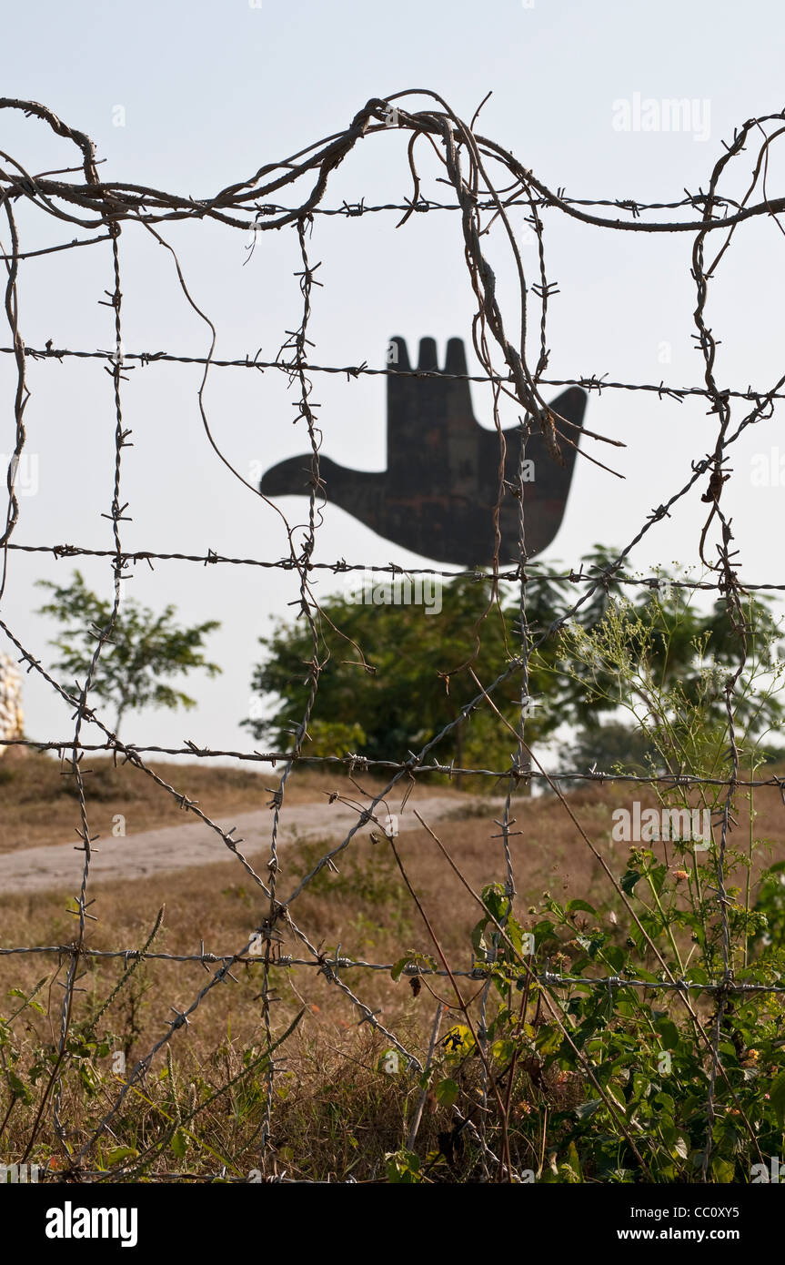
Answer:
M253 8L248 0L140 0L133 6L40 0L6 15L13 58L4 67L3 91L42 101L88 133L99 158L106 159L104 180L200 197L341 130L370 96L434 89L469 120L492 90L478 129L512 149L551 188L573 197L675 201L685 188L707 187L724 152L722 142L736 125L781 109L781 10L767 0L750 0L743 10L728 0L662 0L656 8L631 0L536 0L531 6L521 0L482 6L465 0L374 6L262 0ZM690 126L636 129L641 102L670 99L693 102ZM425 99L408 100L408 109L425 108ZM631 128L619 130L627 109ZM324 205L410 196L407 142L408 134L391 130L355 147ZM0 149L29 172L77 161L73 147L44 124L10 110L0 111ZM736 162L724 191L743 191L750 162L751 156ZM431 196L437 190L431 182ZM770 196L784 191L776 144L767 190ZM23 250L86 235L20 204L16 214ZM310 253L312 262L321 261L324 288L315 291L310 328L315 363L382 367L393 334L407 339L412 357L425 335L436 338L440 361L447 338L461 336L469 345L473 296L458 218L413 215L398 231L396 220L393 213L317 218ZM0 233L8 248L5 220ZM178 250L195 300L217 326L216 354L253 357L262 348L262 358L273 359L300 316L293 230L262 235L248 263L250 238L238 230L195 221L163 233ZM549 377L595 373L611 381L698 385L703 363L691 339L691 244L689 234L622 234L546 211L547 273L560 291L550 305ZM533 247L523 249L525 263L533 267ZM785 240L776 224L741 225L709 293L708 324L722 340L722 385L765 391L782 372L784 263ZM206 326L185 301L171 257L139 225L123 231L121 264L125 349L205 354ZM111 348L111 312L99 306L106 290L107 244L23 262L25 343L43 347L51 338L56 347ZM512 300L503 271L499 290L503 302ZM3 329L0 345L8 347L4 320ZM478 368L470 361L470 372ZM111 381L99 362L30 361L28 369L28 452L37 460L38 484L35 495L20 497L13 539L111 548L111 526L101 517L114 468ZM200 377L197 367L152 364L135 369L124 385L125 425L134 441L123 467L121 500L133 516L121 525L124 548L284 557L278 515L239 486L209 447L196 400ZM358 468L382 468L384 379L316 374L315 383L322 453ZM13 450L14 385L11 357L1 355L0 453ZM478 419L490 425L487 390L475 387L473 397ZM211 426L246 477L306 450L302 426L292 426L293 400L276 371L212 372L206 391ZM734 406L736 421L743 411ZM785 579L779 565L785 478L782 486L761 487L752 477L756 457L760 466L760 455L777 445L785 455L780 419L777 406L770 421L751 428L736 445L733 477L723 493L742 574L751 582ZM713 447L714 420L700 400L679 405L641 393L592 393L585 425L624 441L614 452L624 481L579 459L561 531L541 562L576 564L594 543L626 544L648 511L686 482L690 462ZM636 565L697 558L703 490L702 483L645 538L633 554ZM307 502L286 498L281 506L291 521L302 521ZM319 560L430 562L397 549L336 507L327 507L317 540ZM76 564L91 587L111 595L109 560ZM34 581L63 582L73 565L51 555L10 554L0 616L46 665L53 658L47 639L56 629L33 614L44 600ZM185 683L198 700L197 711L137 713L123 737L174 746L190 737L197 745L249 749L250 735L239 721L248 715L257 638L268 631L271 615L291 612L296 588L292 573L178 562L150 572L139 565L126 586L129 596L153 607L174 602L187 622L222 621L209 657L224 674L215 681L193 674ZM322 582L319 592L329 591L330 582ZM70 710L34 674L24 678L24 707L29 736L67 740L72 734Z

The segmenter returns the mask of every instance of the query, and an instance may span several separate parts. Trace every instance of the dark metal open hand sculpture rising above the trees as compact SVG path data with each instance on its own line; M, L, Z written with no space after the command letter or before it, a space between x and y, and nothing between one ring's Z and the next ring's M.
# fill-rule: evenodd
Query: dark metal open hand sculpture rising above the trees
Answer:
M408 369L406 343L393 338L398 369ZM441 374L436 343L420 343L420 369ZM460 338L447 343L444 373L466 373ZM587 393L580 387L564 391L551 411L575 426L583 425ZM578 443L578 431L569 431ZM504 479L517 488L521 431L504 431L507 454ZM564 516L575 466L575 448L561 444L564 464L550 457L537 423L526 444L526 459L533 462L533 481L523 486L526 550L542 553ZM472 410L469 383L449 377L387 378L387 469L355 471L338 466L329 457L319 460L327 501L353 514L387 540L412 553L459 567L487 565L494 554L493 512L499 498L499 436L478 425ZM310 457L292 457L262 477L264 496L301 495L311 490ZM499 509L502 545L499 560L518 557L520 501L509 487Z

